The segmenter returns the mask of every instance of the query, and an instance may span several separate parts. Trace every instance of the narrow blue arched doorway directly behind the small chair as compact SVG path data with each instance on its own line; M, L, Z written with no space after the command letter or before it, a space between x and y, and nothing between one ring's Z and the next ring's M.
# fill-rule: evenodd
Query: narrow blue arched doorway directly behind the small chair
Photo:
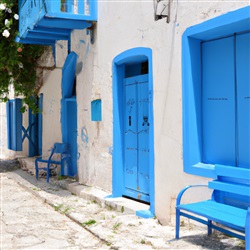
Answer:
M67 56L62 70L62 141L70 145L71 163L66 169L62 169L61 174L71 177L77 175L77 103L75 91L77 58L77 54L71 52Z

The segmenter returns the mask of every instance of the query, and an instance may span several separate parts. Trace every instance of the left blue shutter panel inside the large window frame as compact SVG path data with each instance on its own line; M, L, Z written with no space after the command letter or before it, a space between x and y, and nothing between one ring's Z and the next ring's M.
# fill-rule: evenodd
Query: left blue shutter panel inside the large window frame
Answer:
M202 44L203 162L235 166L234 38Z

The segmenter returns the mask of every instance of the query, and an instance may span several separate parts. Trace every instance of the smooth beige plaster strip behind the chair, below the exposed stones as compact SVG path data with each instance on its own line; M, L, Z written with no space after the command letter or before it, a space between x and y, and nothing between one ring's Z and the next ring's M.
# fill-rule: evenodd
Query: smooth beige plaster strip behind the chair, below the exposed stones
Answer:
M43 155L48 155L55 142L62 141L61 133L61 79L62 69L43 71Z

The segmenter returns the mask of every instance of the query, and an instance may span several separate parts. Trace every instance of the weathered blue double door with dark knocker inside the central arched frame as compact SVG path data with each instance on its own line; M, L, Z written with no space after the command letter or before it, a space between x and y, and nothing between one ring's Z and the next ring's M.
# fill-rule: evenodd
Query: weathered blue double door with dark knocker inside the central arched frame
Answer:
M125 78L125 195L149 202L148 75Z

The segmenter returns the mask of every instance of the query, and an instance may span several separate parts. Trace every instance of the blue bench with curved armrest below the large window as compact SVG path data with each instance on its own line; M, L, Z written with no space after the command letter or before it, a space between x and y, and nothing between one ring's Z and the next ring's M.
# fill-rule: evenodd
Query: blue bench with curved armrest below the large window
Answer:
M190 188L207 185L191 185L180 191L176 200L176 235L179 239L180 216L207 225L212 229L245 240L250 250L250 169L215 165L217 179L209 181L212 197L195 203L181 204L183 194Z

